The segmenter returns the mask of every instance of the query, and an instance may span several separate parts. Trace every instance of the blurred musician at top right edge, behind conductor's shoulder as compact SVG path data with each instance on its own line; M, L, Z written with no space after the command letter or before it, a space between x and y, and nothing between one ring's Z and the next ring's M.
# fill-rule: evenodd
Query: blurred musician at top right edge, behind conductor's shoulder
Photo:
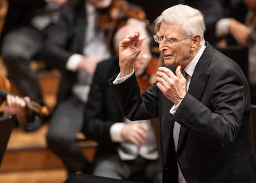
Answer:
M217 24L217 35L227 41L227 46L248 48L248 81L252 105L256 105L256 1L237 1L227 18Z

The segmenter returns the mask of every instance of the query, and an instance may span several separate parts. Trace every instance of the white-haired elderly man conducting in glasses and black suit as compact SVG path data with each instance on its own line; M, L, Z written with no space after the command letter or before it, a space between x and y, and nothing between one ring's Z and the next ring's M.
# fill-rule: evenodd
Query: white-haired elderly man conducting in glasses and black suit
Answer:
M163 182L255 183L249 87L241 68L204 40L197 9L179 4L155 23L164 59L156 83L140 94L133 68L144 39L138 31L120 42L120 73L109 83L129 120L159 116Z

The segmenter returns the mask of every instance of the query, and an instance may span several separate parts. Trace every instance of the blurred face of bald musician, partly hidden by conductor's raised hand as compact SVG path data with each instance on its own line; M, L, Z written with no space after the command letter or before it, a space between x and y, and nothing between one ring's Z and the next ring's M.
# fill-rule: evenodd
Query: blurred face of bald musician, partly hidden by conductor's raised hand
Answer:
M144 40L142 43L142 51L140 52L140 54L138 55L137 59L134 62L134 70L136 76L140 76L143 74L150 60L150 47L148 46L148 43Z

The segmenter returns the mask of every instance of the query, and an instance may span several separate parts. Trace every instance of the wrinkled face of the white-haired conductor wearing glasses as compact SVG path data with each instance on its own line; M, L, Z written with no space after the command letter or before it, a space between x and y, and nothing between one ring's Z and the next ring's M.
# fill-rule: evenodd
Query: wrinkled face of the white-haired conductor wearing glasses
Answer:
M191 51L192 37L184 35L181 25L168 25L166 22L161 22L156 35L163 38L161 43L158 44L164 63L174 67L181 65L181 68L185 68L193 58ZM172 39L174 42L182 40L172 44L166 38Z

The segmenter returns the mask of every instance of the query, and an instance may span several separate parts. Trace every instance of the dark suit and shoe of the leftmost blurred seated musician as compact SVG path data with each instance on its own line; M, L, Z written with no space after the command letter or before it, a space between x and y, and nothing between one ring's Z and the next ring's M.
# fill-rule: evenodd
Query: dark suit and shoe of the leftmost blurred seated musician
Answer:
M43 30L32 25L38 10L46 7L44 0L10 0L1 32L1 56L8 71L8 77L15 84L22 96L29 96L36 103L43 105L43 96L36 73L30 62L40 52L43 42ZM41 125L41 116L27 113L25 131L34 131Z

